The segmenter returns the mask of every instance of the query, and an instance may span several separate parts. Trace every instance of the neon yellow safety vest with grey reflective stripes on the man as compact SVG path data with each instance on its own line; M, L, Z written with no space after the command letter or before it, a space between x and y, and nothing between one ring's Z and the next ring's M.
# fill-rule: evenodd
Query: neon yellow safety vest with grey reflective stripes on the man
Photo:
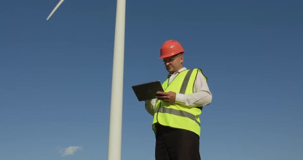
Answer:
M181 71L168 85L168 79L162 84L164 92L176 92L181 94L193 94L194 83L201 69ZM203 73L202 73L203 74ZM204 76L204 75L203 75ZM207 78L204 76L205 80ZM202 106L201 106L202 107ZM192 131L200 136L201 107L187 107L176 103L158 101L155 107L153 130L157 133L156 124Z

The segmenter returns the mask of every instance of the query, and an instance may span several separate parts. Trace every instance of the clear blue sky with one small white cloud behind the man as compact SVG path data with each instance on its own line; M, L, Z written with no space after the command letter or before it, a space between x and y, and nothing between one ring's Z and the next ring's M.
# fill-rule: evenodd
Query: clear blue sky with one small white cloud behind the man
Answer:
M0 3L0 159L107 159L116 1L66 0L46 21L58 2ZM152 116L131 86L165 81L167 39L213 93L202 159L302 159L302 8L127 1L122 159L154 159Z

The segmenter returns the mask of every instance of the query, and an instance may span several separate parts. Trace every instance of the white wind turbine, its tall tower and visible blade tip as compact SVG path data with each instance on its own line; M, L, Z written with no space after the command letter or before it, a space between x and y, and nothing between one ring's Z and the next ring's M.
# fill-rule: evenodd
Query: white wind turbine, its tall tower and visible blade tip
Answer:
M59 8L64 0L55 6L46 20ZM115 43L113 45L113 64L111 81L111 102L109 118L108 160L121 159L122 137L122 102L124 71L124 36L125 36L126 0L117 0Z

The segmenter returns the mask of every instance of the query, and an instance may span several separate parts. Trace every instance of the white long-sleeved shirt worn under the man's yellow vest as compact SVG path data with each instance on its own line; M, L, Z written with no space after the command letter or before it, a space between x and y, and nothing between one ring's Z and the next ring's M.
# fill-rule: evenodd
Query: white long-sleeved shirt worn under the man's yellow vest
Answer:
M174 80L174 78L181 72L186 70L185 67L181 68L177 72L173 73L168 80L168 84ZM195 84L194 84L194 93L193 94L181 94L176 93L175 103L182 104L188 107L202 107L212 103L212 93L207 86L204 76L201 72L198 72ZM151 115L154 115L155 106L158 102L158 98L150 99L145 101L145 109Z

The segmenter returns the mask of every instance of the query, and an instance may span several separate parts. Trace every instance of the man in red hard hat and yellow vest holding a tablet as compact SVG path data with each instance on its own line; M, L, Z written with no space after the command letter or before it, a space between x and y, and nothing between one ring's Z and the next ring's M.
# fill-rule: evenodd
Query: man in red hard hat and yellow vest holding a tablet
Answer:
M166 41L160 57L169 72L162 84L164 92L145 101L145 109L154 115L156 160L200 159L200 119L202 107L212 102L212 93L201 69L183 67L184 49L174 40Z

